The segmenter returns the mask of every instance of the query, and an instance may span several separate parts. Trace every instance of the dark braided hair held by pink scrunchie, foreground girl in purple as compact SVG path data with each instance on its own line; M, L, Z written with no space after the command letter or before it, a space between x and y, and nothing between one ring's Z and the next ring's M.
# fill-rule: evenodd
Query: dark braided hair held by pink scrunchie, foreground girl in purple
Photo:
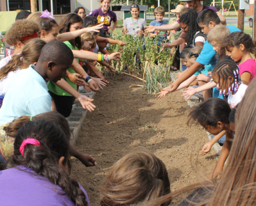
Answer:
M20 147L26 139L35 139L39 141L40 146L27 144L24 146L22 155ZM29 121L20 128L16 135L11 164L31 168L39 176L58 185L76 206L87 205L85 194L78 182L70 178L65 170L58 166L59 159L64 157L63 165L67 165L70 171L68 150L69 139L61 127L44 120ZM63 192L59 191L58 194L63 195Z

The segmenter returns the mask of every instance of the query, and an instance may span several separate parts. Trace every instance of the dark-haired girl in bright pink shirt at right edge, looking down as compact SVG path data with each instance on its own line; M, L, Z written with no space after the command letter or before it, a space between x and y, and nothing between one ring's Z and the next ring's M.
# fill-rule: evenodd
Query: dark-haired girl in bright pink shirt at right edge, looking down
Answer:
M227 49L228 55L238 62L240 68L239 74L244 84L248 85L249 82L256 75L256 63L250 55L256 54L255 45L250 35L242 31L236 31L225 39L224 46Z

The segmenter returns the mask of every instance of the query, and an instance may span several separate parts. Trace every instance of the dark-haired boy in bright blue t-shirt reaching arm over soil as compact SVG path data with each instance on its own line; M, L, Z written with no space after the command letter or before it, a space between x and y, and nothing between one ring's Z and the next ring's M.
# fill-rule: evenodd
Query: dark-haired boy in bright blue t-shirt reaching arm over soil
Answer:
M198 15L197 22L199 26L202 28L202 32L204 32L205 35L208 35L209 31L216 25L221 24L218 14L216 14L215 11L212 9L203 10ZM231 33L234 31L240 31L240 29L236 28L233 25L228 25L227 27L229 28ZM208 41L206 41L204 43L201 54L197 58L197 61L195 61L195 63L192 66L190 66L189 69L186 70L184 74L180 76L180 78L178 78L175 82L173 82L169 87L161 90L173 92L178 88L180 83L187 80L195 72L200 70L200 68L202 68L204 65L211 64L213 68L216 64L215 53L216 51L213 50L213 46L210 43L208 43Z

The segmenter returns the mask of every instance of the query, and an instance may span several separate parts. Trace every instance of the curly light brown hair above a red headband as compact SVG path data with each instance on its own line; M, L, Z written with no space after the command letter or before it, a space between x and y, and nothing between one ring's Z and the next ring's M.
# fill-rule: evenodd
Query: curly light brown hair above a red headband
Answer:
M18 41L20 41L23 37L33 35L35 32L40 31L40 26L38 23L36 23L33 20L19 20L17 22L14 22L9 28L9 30L6 32L5 38L6 43L14 46L17 44ZM22 41L23 44L25 44L29 40Z

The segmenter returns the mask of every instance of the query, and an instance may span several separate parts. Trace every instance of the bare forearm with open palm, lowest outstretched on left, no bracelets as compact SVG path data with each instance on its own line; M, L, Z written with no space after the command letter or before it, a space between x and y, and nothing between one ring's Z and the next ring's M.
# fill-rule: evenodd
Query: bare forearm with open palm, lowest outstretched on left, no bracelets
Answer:
M71 94L73 97L77 98L80 101L82 107L84 109L87 109L89 112L94 111L94 108L96 108L96 106L92 103L93 99L90 99L89 97L84 96L79 92L77 92L76 90L74 90L71 87L71 85L68 82L66 82L64 79L57 81L56 85L62 88L64 91Z

